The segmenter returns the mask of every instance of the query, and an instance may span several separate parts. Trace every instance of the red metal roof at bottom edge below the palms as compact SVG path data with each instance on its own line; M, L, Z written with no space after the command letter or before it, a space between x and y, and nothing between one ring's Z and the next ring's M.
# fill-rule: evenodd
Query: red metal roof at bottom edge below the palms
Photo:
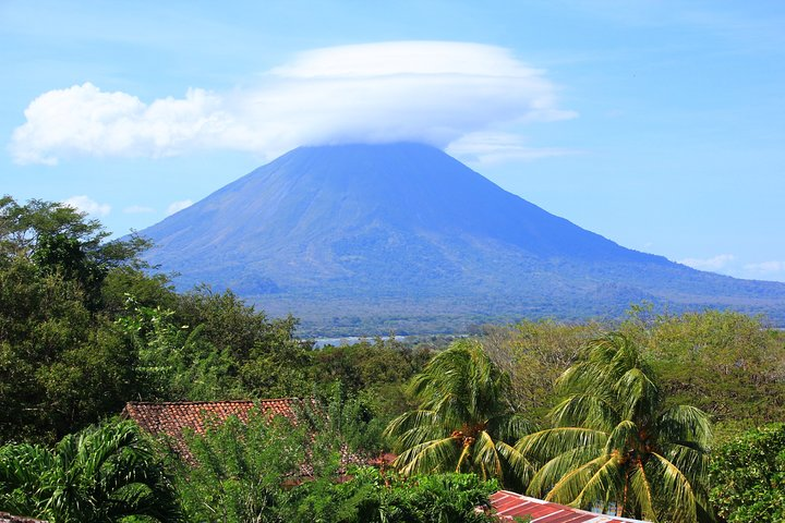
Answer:
M507 490L493 494L491 507L502 521L512 521L515 516L529 515L532 523L641 523L640 520L587 512Z

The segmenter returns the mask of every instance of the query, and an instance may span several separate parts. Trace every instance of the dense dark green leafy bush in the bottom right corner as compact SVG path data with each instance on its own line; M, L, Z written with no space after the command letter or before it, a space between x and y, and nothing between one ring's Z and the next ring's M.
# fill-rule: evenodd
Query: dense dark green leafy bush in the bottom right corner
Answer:
M785 521L785 424L748 430L720 447L710 477L711 501L724 521Z

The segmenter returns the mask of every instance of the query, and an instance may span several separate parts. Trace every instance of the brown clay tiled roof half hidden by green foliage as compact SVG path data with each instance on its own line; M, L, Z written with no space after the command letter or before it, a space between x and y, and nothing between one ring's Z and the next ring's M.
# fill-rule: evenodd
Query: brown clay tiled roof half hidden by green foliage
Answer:
M293 419L297 409L303 401L297 398L276 400L238 400L238 401L178 401L152 403L131 401L125 404L122 417L135 421L140 427L154 435L170 438L172 449L188 459L188 447L184 440L185 429L196 434L205 433L205 422L224 422L230 416L247 421L249 413L256 406L267 412L270 417L283 416Z

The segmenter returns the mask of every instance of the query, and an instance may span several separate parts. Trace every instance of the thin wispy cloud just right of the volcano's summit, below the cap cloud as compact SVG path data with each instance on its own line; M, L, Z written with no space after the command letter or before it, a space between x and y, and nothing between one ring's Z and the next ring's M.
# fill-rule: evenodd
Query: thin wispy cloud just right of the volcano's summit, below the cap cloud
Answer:
M451 142L447 153L468 163L490 165L504 161L530 161L540 158L575 155L579 151L559 147L531 147L522 136L502 132L469 133Z

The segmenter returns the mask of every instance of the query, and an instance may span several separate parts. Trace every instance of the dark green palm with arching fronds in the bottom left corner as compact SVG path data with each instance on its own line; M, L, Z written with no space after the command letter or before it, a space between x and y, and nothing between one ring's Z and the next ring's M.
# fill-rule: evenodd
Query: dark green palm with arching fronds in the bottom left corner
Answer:
M87 427L52 450L0 447L0 507L55 523L181 520L169 478L133 422Z

